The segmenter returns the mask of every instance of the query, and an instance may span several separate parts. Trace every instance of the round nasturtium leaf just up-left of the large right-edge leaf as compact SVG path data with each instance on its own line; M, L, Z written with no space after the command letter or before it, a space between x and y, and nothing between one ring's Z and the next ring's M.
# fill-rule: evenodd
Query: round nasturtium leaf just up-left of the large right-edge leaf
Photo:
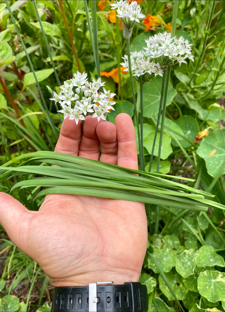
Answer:
M198 123L196 119L194 119L191 116L182 116L179 119L175 121L175 123L180 127L180 129L183 131L185 139L180 140L180 144L183 146L183 148L186 148L191 145L191 143L194 143L196 135L198 135L199 129L198 129ZM174 146L178 146L178 144L173 141Z

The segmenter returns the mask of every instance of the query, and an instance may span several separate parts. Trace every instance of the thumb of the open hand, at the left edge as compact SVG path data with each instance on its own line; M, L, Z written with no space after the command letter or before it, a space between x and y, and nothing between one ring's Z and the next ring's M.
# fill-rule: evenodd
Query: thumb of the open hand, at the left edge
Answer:
M11 195L0 192L0 223L13 243L26 252L27 232L32 214Z

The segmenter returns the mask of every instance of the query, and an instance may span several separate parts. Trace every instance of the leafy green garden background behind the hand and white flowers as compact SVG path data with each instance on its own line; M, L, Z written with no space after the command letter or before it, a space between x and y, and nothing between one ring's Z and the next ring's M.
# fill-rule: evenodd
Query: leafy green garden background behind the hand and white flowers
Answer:
M131 52L147 47L145 40L149 36L172 31L174 1L137 2L145 17L134 25ZM97 52L92 48L94 8ZM172 67L158 161L159 173L177 175L178 181L179 176L194 178L195 188L212 193L213 200L222 204L225 198L224 19L224 1L179 1L175 35L193 44L194 62L188 60L187 64ZM115 112L108 114L108 120L114 122L116 115L126 112L137 129L129 74L120 65L122 56L127 54L126 39L110 1L0 1L1 165L27 152L54 149L61 117L57 113L59 108L48 99L53 91L59 93L59 86L77 71L85 71L88 78L97 79L96 53L99 53L105 89L117 94ZM157 76L143 84L146 171L151 160L162 81ZM134 90L139 119L142 100L135 79ZM159 136L157 131L151 172L157 172ZM32 177L33 174L22 177L15 174L3 179L1 191L9 193L15 183ZM191 182L187 184L193 186ZM13 190L12 195L28 209L38 209L42 199L37 199L34 205L31 199L39 190L23 189L21 198ZM224 311L224 211L211 207L208 212L159 208L157 212L153 205L147 209L149 246L140 277L148 287L149 311L213 308ZM46 290L43 282L45 276L34 261L8 240L2 228L0 235L0 310L7 310L7 304L14 300L14 311L38 308L47 311L47 303L41 308L44 302L51 303L51 291Z

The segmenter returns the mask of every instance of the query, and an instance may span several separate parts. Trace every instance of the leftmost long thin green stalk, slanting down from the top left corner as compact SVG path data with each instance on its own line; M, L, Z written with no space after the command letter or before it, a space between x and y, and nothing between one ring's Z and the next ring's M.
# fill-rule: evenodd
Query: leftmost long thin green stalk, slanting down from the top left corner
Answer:
M47 107L47 105L46 105L46 101L45 101L45 98L44 98L44 96L43 96L43 93L42 93L42 90L41 90L41 86L40 86L40 84L39 84L39 82L38 82L38 80L37 80L37 76L36 76L36 74L35 74L33 64L32 64L32 62L31 62L31 59L30 59L29 54L27 53L26 46L25 46L25 44L24 44L24 42L23 42L23 40L22 40L22 37L21 37L21 35L20 35L20 32L19 32L17 23L16 23L16 21L15 21L15 19L14 19L14 17L13 17L11 8L10 8L9 3L8 3L8 0L5 0L5 3L6 3L6 6L7 6L8 11L9 11L10 17L11 17L11 19L12 19L12 22L13 22L13 24L14 24L14 26L15 26L16 31L17 31L17 35L18 35L18 37L19 37L19 39L20 39L20 42L21 42L21 44L22 44L22 46L23 46L23 49L24 49L24 51L25 51L25 53L26 53L27 61L28 61L29 65L30 65L30 68L31 68L31 70L32 70L32 72L33 72L33 75L34 75L34 78L35 78L35 80L36 80L37 88L38 88L38 91L39 91L40 96L41 96L41 99L42 99L42 103L43 103L44 108L45 108L45 110L43 110L43 112L44 112L45 115L46 115L46 118L47 118L47 120L48 120L48 122L49 122L49 124L50 124L50 126L51 126L51 128L52 128L52 130L53 130L53 133L54 133L55 136L56 136L56 139L58 139L58 132L57 132L57 130L56 130L56 126L55 126L55 124L54 124L54 122L53 122L53 120L52 120L52 118L51 118L50 112L49 112L48 107Z

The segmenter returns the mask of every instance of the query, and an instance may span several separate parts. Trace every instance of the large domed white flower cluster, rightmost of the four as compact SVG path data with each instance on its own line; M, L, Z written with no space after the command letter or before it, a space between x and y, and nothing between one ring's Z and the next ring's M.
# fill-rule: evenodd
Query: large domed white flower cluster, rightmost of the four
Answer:
M181 36L171 38L169 32L158 33L154 37L149 37L145 40L147 43L146 54L150 58L154 58L159 64L169 66L174 63L187 63L185 60L188 58L194 61L191 54L191 44L188 40L184 40Z

